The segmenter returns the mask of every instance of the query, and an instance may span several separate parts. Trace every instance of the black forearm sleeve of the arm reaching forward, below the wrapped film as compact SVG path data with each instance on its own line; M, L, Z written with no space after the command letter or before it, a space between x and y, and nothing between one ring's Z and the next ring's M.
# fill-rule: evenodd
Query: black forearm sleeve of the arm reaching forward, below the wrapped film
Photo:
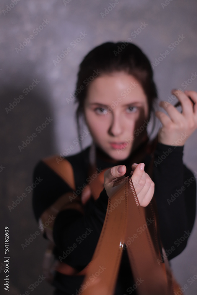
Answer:
M58 214L53 227L53 239L62 253L60 261L79 270L91 261L104 223L107 204L108 196L103 189L96 201L92 198L87 201L84 215L75 210L64 210ZM67 256L64 254L66 250L69 250Z

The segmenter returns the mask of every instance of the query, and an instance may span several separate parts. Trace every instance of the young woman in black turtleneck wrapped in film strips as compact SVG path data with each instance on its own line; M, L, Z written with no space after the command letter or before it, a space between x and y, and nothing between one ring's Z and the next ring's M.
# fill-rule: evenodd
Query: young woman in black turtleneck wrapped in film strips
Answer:
M40 161L34 171L34 178L43 179L34 189L35 216L44 236L55 244L56 295L79 294L111 187L120 177L132 175L141 206L154 195L168 259L184 250L195 219L196 181L183 164L183 148L197 127L197 93L172 91L182 113L160 102L168 116L155 113L162 128L150 142L146 127L152 112L154 116L157 90L150 62L136 45L107 42L94 48L80 65L76 89L81 90L76 92L79 135L83 117L92 145L69 157L56 156L58 168L66 163L67 172L54 171L48 160ZM115 294L131 294L134 283L125 246Z

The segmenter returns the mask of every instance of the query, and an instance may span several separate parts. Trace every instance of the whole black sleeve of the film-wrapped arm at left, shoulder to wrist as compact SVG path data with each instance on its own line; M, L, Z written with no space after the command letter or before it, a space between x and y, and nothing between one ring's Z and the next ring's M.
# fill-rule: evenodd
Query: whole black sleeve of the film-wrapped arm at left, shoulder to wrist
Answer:
M34 214L38 221L40 215L59 196L72 191L72 189L42 161L36 165L33 179L34 182L39 180L38 185L33 191L32 199ZM73 253L71 252L68 258L63 260L65 263L79 270L89 263L102 230L107 204L108 196L105 189L103 189L96 201L90 198L86 203L84 215L74 209L61 211L57 215L53 227L53 235L58 253L72 249L69 247L73 247L73 244L77 245ZM46 236L44 235L44 237Z

